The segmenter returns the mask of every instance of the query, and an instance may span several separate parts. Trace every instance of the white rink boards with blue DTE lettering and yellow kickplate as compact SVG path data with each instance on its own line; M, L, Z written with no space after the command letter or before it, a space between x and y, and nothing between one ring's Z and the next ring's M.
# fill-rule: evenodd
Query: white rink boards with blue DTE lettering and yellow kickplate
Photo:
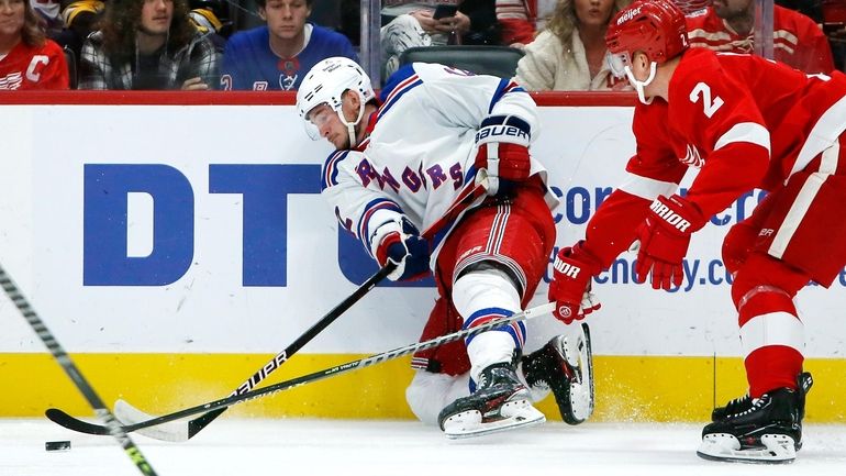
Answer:
M376 270L319 196L331 151L308 139L290 96L13 100L0 104L0 262L107 401L122 396L156 412L225 396ZM538 103L534 152L563 200L564 246L623 178L632 100L559 95ZM737 200L694 236L680 289L634 283L631 255L597 279L598 419L701 420L714 399L744 391L720 243L760 196ZM846 419L844 287L846 274L798 298L815 421ZM545 295L543 284L534 302ZM268 381L414 342L433 297L431 281L377 287ZM7 300L0 321L0 388L13 389L0 395L0 416L51 406L86 414ZM552 318L532 321L527 347L560 331ZM408 359L397 359L237 412L410 418L410 378Z

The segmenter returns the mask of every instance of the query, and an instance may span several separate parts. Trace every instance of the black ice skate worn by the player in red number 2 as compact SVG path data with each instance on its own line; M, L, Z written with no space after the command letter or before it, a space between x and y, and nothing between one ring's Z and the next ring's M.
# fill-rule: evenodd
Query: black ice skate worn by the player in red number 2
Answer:
M705 460L744 463L791 463L802 447L805 395L811 374L797 377L798 389L779 388L760 398L732 400L721 419L702 430L697 454ZM719 409L717 409L719 410Z

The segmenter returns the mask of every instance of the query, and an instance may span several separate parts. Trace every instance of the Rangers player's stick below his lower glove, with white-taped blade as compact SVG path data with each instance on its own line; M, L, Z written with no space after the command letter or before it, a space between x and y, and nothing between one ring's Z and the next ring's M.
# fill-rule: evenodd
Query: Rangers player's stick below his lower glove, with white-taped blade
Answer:
M353 305L355 305L363 297L365 297L365 295L367 295L377 284L381 283L386 277L388 277L388 275L391 274L391 272L393 272L396 267L397 266L393 264L388 264L385 267L380 268L378 272L376 272L376 274L370 276L361 286L358 287L358 289L355 290L355 292L353 292L346 299L341 301L341 303L335 306L334 309L329 311L326 316L322 317L308 331L305 331L302 335L297 337L297 340L293 341L290 345L288 345L282 352L276 354L274 358L271 358L267 364L261 366L261 368L259 368L255 374L253 374L252 377L249 377L247 380L241 384L229 396L234 397L237 395L246 394L247 391L252 390L261 380L267 378L267 376L270 375L270 373L279 368L280 365L285 364L291 357L291 355L296 354L300 348L302 348L312 339L314 339L314 336L316 336L324 329L326 329L329 324L333 323L341 314L346 312L347 309L349 309ZM200 430L202 430L209 423L214 421L215 418L220 417L221 413L223 413L224 411L226 411L226 407L210 411L193 420L189 420L188 422L174 422L169 425L163 425L160 428L141 430L138 431L138 433L145 436L154 438L156 440L176 441L176 442L188 441L198 432L200 432ZM118 414L120 420L123 421L124 423L135 423L138 421L144 421L144 420L149 420L155 418L154 416L147 414L138 410L137 408L133 407L125 400L121 400L121 399L119 399L114 403L114 412Z

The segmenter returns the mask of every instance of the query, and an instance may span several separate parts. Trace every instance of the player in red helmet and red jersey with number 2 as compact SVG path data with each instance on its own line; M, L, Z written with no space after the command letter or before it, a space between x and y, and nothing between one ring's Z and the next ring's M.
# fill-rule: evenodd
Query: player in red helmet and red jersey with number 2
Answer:
M714 410L698 453L792 461L811 385L792 299L846 264L846 76L689 48L686 33L669 0L638 0L611 22L609 62L638 95L636 153L586 239L558 254L549 298L560 317L595 310L583 301L591 277L630 247L639 280L679 286L691 234L744 192L769 191L723 243L749 392ZM687 195L675 193L690 167Z

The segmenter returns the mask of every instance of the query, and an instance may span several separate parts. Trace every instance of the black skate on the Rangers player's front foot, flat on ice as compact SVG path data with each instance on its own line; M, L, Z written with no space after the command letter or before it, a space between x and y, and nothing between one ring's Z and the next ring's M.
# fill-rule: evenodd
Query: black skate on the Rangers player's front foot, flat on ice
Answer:
M485 368L476 392L447 405L437 420L447 438L458 439L531 427L546 418L532 407L514 366L500 363Z

